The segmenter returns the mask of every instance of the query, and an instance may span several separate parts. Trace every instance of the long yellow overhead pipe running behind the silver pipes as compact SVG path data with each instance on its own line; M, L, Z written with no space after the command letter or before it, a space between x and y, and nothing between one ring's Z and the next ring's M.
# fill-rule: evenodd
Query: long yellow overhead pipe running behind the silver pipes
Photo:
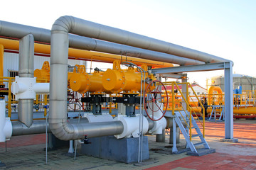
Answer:
M18 50L19 42L18 40L9 40L0 38L0 44L3 44L5 49L9 50ZM50 54L50 45L43 45L35 43L35 52L42 54ZM114 60L121 60L119 55L110 55L102 52L92 52L87 50L78 50L69 48L68 56L74 57L76 60L92 60L92 61L100 61L100 62L114 62ZM135 57L123 57L123 61L133 62L137 65L147 64L149 67L174 67L174 64L166 63L166 62L157 62L153 60L144 60Z

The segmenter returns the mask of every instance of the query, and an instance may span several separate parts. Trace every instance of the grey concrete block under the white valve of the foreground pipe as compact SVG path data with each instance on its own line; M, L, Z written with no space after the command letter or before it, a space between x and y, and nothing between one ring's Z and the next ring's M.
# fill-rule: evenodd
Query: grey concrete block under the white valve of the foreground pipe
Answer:
M92 157L110 159L117 162L138 162L139 138L117 140L114 136L90 138L91 144L82 144L81 152ZM149 159L149 143L143 137L142 160Z

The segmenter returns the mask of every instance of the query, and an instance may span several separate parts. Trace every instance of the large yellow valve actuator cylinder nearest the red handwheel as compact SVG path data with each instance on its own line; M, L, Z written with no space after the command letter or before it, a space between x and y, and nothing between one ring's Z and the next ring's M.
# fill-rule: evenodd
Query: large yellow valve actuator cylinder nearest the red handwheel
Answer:
M143 66L147 71L147 67ZM155 79L153 75L146 74L149 79ZM127 70L121 69L119 60L113 62L113 69L107 69L102 75L102 84L106 91L117 94L124 91L125 94L138 94L141 89L141 73L134 67Z

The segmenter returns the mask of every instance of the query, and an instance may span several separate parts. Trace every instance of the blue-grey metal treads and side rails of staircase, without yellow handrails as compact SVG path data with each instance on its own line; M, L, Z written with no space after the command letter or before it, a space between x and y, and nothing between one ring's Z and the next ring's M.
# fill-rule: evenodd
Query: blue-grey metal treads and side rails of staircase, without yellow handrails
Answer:
M181 114L183 116L181 116ZM174 120L175 122L178 124L178 128L181 129L181 132L183 134L183 136L185 137L185 140L187 142L187 147L189 147L191 149L191 152L196 152L198 153L198 151L196 150L196 146L200 146L203 145L206 149L210 149L208 143L206 142L206 139L203 137L203 134L200 130L200 128L198 128L198 125L196 123L196 120L193 118L193 116L191 116L191 129L195 129L196 130L196 134L195 135L191 135L192 139L195 137L199 137L201 142L198 143L193 143L193 141L190 140L190 135L189 135L189 128L188 127L184 127L183 125L183 121L186 121L187 124L189 125L189 118L187 116L188 114L186 114L184 111L180 112L180 111L176 111L175 115L174 115ZM186 117L186 120L181 120L183 118Z

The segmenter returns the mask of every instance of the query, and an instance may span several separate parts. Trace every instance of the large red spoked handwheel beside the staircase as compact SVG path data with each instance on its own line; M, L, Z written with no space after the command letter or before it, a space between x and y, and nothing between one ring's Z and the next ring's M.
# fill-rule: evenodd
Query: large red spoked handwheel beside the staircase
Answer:
M163 90L162 90L163 87ZM164 97L162 97L162 94L166 94L166 106L168 105L168 93L166 90L166 87L161 81L154 80L149 83L148 86L146 86L146 95L144 96L144 103L145 103L145 111L146 115L149 116L149 118L153 121L160 120L164 117L167 107L164 109L162 108ZM149 110L152 114L149 113ZM154 118L154 113L157 111L160 111L161 115L160 118Z

